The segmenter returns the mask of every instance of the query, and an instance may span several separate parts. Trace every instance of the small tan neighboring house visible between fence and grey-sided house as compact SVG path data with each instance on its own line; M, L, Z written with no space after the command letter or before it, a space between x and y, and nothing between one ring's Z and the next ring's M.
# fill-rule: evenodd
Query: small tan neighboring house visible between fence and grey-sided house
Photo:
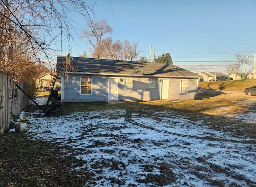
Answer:
M53 80L56 78L56 76L52 76L50 74L44 74L43 76L36 79L36 85L38 87L39 92L48 91L52 88ZM56 80L54 89L60 88L60 79Z

